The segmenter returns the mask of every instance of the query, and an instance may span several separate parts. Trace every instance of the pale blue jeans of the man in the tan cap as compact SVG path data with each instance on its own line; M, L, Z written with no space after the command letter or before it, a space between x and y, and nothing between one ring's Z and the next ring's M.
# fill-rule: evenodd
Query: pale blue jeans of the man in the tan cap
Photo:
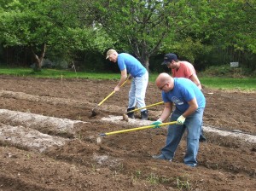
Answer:
M135 107L146 107L145 96L148 86L148 72L141 77L132 78L131 89L129 91L129 104L128 108ZM142 109L143 112L146 109Z

